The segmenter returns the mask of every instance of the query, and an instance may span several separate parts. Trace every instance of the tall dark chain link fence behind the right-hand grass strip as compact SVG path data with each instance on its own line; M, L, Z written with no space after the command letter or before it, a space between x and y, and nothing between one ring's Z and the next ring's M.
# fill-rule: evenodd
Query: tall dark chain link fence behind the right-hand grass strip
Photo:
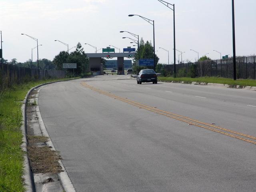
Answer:
M240 79L255 79L256 56L236 58L236 76ZM174 74L173 65L164 65L164 73ZM216 76L233 78L233 58L225 60L205 60L194 63L176 64L176 75L178 77L202 77Z

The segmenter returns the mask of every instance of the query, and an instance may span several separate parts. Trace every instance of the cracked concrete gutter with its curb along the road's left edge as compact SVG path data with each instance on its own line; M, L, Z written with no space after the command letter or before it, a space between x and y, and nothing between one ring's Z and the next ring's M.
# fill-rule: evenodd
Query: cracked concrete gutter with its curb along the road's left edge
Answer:
M60 81L57 81L60 82ZM35 176L34 178L34 174L31 171L31 167L30 167L30 162L28 159L28 154L27 154L27 146L28 146L28 140L27 140L27 134L28 134L28 129L27 129L27 114L26 114L26 104L29 100L29 96L30 93L33 90L37 90L39 88L39 90L37 91L36 94L36 98L34 98L36 100L36 102L38 101L38 94L40 91L40 88L42 88L42 86L45 86L47 84L51 84L54 82L49 82L49 83L45 83L45 84L40 84L38 86L35 86L34 88L30 89L28 91L28 93L26 94L26 97L24 98L23 104L22 104L22 145L21 148L24 151L24 175L23 175L23 179L24 179L24 188L26 189L26 192L36 192L36 191L42 191L42 192L57 192L57 191L65 191L65 192L75 192L74 186L68 176L68 173L66 172L64 165L62 164L61 160L59 160L59 164L62 167L63 172L60 172L58 174L51 174L50 176L48 174L38 174L37 176ZM39 106L36 106L36 119L38 120L38 124L39 126L36 126L37 128L35 128L37 133L42 133L43 136L47 136L48 132L46 130L46 127L44 126L44 122L42 120L41 114L40 114L40 110L39 110ZM39 130L38 130L39 128ZM55 150L54 145L52 144L52 141L50 140L49 137L49 141L47 142L47 145L50 146L52 148L52 150ZM44 180L47 180L47 178L54 178L55 181L59 181L58 182L49 182L49 184L47 185L47 183L44 183L42 185L42 187L40 187L40 190L38 190L36 188L35 182L41 182ZM41 182L42 183L42 182ZM52 186L55 185L55 186ZM60 187L61 185L61 187Z

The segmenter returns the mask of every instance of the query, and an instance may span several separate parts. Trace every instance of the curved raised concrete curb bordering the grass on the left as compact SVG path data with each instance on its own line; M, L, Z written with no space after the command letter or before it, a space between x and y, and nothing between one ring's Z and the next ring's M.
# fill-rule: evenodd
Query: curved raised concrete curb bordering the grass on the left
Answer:
M77 79L80 79L80 78L77 78ZM75 80L75 79L72 79L72 80ZM22 126L21 126L22 144L21 144L21 148L24 151L24 162L23 162L24 174L23 174L22 178L24 179L24 188L25 188L26 192L35 192L36 191L35 185L34 185L34 177L33 177L33 174L32 174L31 168L30 168L28 155L27 155L28 140L27 140L27 137L26 137L26 135L27 135L26 103L28 101L28 96L29 96L30 92L32 92L32 90L34 90L38 87L41 87L41 86L44 86L44 85L47 85L47 84L56 83L56 82L64 82L64 81L70 81L70 80L54 81L54 82L48 82L48 83L43 83L43 84L37 85L37 86L31 88L27 92L27 94L26 94L26 96L23 100L23 104L22 104L22 107L21 107L21 110L22 110ZM41 117L41 115L40 115L40 117ZM63 164L61 163L60 165L62 166L63 170L65 170ZM65 170L65 172L66 172L66 170ZM71 190L67 189L66 192L74 192L74 191L71 191Z

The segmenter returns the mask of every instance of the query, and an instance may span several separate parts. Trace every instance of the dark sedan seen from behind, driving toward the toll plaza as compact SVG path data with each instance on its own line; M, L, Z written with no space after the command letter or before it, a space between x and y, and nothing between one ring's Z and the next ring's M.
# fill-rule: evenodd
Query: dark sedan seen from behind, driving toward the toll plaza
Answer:
M137 84L142 82L153 82L157 84L156 72L153 69L142 69L137 76Z

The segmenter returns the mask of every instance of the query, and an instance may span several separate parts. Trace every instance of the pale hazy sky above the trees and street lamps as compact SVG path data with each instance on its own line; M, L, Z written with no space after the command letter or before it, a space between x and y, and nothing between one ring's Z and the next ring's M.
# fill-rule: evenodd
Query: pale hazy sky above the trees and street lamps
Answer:
M183 60L197 59L209 53L212 59L232 56L231 0L166 0L175 4L176 49L185 52ZM2 30L3 57L25 62L31 58L36 41L21 35L38 38L39 58L52 60L66 46L81 42L85 52L94 52L89 43L99 48L114 45L131 46L122 39L129 31L153 43L153 27L138 14L155 21L156 54L160 63L173 62L173 12L158 0L0 0L0 30ZM256 0L235 0L236 55L256 54ZM73 49L74 50L74 49ZM72 50L71 50L72 51ZM117 50L116 50L117 51ZM36 49L33 52L36 60ZM176 52L178 59L178 52Z

